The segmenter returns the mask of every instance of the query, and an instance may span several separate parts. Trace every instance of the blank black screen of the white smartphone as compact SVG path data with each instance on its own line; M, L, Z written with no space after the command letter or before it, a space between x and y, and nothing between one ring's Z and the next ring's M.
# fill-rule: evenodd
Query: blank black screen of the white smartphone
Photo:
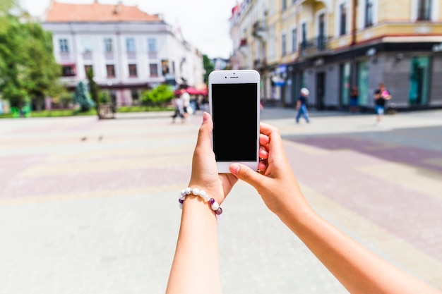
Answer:
M258 84L212 84L216 161L256 161Z

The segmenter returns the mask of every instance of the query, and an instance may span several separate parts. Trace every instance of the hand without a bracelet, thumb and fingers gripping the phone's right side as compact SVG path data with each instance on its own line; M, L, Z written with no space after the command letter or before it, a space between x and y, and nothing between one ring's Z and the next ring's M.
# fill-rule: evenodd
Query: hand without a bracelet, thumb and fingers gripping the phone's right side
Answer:
M265 123L261 123L260 130L259 156L263 160L259 172L242 164L231 164L230 172L256 188L267 207L280 218L311 210L289 165L279 130Z

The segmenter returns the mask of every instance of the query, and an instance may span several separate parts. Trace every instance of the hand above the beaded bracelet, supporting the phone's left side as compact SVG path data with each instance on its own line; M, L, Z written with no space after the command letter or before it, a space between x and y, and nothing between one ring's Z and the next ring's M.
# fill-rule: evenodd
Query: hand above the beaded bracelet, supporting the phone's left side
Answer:
M198 188L221 204L235 183L237 177L231 173L218 173L215 154L211 147L213 121L210 114L204 112L203 123L198 132L195 152L193 152L190 188Z

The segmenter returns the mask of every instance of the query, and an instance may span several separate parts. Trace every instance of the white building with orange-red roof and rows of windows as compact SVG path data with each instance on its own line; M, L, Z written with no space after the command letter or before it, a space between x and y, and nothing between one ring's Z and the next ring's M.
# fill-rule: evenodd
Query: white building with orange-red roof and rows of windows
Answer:
M203 83L202 54L162 16L138 6L52 0L42 26L52 32L61 81L71 90L88 68L119 106L137 103L142 90L160 83Z

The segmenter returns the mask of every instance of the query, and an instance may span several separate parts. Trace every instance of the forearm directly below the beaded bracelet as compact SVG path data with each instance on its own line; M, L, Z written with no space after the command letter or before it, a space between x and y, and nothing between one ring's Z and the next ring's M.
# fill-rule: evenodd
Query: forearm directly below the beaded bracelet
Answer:
M166 293L221 293L215 214L201 197L187 198Z

